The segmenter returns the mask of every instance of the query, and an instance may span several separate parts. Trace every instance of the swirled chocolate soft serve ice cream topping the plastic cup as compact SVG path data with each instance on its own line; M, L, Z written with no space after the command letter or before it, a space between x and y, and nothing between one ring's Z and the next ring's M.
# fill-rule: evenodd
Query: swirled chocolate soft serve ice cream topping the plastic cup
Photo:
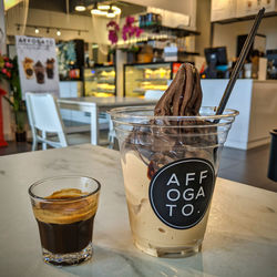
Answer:
M171 116L198 116L201 104L199 74L194 65L185 63L179 68L172 84L154 109L154 115L158 117L152 120L148 129L134 127L125 141L126 148L135 147L138 154L150 161L148 174L151 176L162 165L177 158L195 156L196 152L202 157L211 156L211 151L214 150L205 148L205 146L211 143L216 144L217 140L216 129L213 127L211 132L211 122L189 117L171 120ZM148 132L150 129L151 132ZM138 143L134 146L133 142ZM179 147L185 151L179 151Z

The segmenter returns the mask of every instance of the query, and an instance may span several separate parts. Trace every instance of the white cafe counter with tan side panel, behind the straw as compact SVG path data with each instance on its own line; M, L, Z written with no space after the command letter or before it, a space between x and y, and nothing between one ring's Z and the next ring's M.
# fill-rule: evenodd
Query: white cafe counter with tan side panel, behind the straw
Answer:
M217 106L228 80L202 80L203 106ZM227 106L239 111L225 146L248 150L270 142L277 127L277 81L237 80Z

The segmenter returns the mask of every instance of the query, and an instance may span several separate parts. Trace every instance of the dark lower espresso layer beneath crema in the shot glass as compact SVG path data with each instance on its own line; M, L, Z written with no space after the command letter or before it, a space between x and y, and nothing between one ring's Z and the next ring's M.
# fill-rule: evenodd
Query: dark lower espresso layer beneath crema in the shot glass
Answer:
M53 254L81 252L92 240L94 215L71 224L37 222L42 247Z

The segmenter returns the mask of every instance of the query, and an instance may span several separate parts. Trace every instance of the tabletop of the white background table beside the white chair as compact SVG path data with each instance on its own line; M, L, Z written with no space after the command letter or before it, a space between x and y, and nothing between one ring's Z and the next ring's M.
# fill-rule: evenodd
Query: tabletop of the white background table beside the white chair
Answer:
M146 100L138 98L65 98L59 99L59 103L63 104L85 104L98 106L122 106L122 105L142 105L142 104L156 104L157 100Z

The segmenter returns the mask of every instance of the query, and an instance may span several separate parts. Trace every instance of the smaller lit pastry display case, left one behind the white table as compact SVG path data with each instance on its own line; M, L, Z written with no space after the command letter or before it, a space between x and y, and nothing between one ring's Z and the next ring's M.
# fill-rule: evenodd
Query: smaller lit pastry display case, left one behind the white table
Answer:
M116 95L114 66L84 69L84 95L98 98Z

